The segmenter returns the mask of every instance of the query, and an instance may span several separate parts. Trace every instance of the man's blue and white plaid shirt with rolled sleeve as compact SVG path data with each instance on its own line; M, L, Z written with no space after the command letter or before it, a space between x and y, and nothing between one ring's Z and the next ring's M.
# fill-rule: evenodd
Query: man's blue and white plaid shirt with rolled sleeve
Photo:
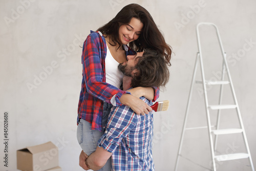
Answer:
M112 153L112 170L155 170L152 144L153 112L142 116L129 106L113 106L106 130L98 140L98 146Z

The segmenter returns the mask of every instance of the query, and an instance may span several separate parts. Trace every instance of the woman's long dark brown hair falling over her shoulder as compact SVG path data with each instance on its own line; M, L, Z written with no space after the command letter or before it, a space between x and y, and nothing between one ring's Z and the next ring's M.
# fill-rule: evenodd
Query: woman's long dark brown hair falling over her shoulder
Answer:
M156 50L164 56L167 65L171 66L171 47L166 44L151 14L138 4L130 4L123 7L109 23L100 27L97 31L109 35L114 42L113 46L118 44L120 47L122 44L118 34L119 27L129 24L133 17L140 20L143 24L143 28L139 38L130 42L129 47L139 52L144 51L146 48Z

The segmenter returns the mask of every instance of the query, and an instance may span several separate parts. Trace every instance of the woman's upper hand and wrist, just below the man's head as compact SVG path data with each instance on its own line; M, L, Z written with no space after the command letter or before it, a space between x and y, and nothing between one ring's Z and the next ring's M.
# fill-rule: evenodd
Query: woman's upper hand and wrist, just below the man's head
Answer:
M133 96L138 98L143 96L148 100L153 100L155 95L155 90L152 87L136 87L127 90L127 92L130 92Z

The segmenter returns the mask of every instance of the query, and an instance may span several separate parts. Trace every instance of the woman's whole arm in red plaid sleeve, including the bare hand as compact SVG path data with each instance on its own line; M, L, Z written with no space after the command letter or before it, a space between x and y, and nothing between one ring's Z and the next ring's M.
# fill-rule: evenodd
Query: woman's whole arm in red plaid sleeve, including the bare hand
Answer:
M137 114L148 114L152 108L138 97L127 94L109 83L103 81L104 71L102 69L102 49L99 45L100 35L93 33L84 42L82 64L83 77L88 93L102 101L111 103L115 98L115 106L128 105Z

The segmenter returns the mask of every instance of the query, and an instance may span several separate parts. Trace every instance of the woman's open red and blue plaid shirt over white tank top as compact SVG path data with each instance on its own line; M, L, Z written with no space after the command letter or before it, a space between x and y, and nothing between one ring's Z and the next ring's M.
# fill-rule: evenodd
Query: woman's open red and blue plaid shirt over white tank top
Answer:
M126 56L136 54L135 51L124 48ZM106 41L100 32L93 32L88 35L83 43L82 48L82 86L78 103L79 119L84 119L92 123L92 130L102 130L102 113L103 101L111 103L111 99L115 96L115 105L121 106L119 98L124 93L109 83L105 78L105 57L106 57ZM159 97L159 89L155 88L156 100Z

